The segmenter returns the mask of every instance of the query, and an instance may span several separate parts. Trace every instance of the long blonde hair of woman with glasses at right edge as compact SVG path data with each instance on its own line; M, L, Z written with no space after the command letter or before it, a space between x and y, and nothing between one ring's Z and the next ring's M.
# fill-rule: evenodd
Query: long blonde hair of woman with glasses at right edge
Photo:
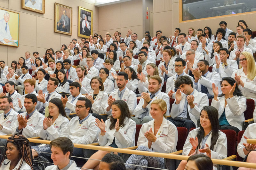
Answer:
M241 55L244 55L244 57L247 60L247 78L250 80L253 80L256 76L256 67L255 67L254 58L251 53L245 52L245 51L242 52L240 56ZM242 68L241 64L240 64L240 68Z

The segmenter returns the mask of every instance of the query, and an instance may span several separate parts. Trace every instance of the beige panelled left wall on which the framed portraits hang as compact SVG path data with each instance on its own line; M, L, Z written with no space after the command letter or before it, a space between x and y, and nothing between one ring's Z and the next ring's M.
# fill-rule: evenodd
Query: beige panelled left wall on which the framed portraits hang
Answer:
M72 7L72 36L54 32L54 2ZM0 8L20 13L20 46L1 45L0 60L10 65L13 60L25 57L26 51L37 51L42 56L46 49L60 50L62 44L68 45L73 38L81 42L81 37L77 37L78 6L93 11L93 32L98 32L98 7L94 0L45 0L45 14L22 9L21 0L1 0Z

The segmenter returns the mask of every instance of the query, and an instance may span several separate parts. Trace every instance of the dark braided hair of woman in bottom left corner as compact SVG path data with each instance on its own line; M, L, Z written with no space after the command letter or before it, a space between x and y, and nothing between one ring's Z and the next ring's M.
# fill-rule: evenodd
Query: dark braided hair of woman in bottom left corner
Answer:
M22 166L24 160L33 170L32 151L31 151L31 147L30 147L30 143L29 143L28 139L23 135L14 135L14 136L10 136L7 139L7 143L8 142L13 143L13 145L15 145L17 147L17 149L19 150L19 157L20 157L20 159L22 159L22 161L20 163L18 170ZM6 146L7 146L7 143L6 143ZM2 165L4 158L6 157L6 146L5 146L5 150L3 153L3 159L1 161L0 166Z

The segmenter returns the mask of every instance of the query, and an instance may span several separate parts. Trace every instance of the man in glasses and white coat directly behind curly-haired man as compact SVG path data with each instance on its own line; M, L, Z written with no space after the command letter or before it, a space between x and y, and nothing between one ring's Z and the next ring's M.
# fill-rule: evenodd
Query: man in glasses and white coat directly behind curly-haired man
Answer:
M174 63L174 70L176 74L174 74L172 77L169 77L166 81L165 93L168 94L170 99L172 98L172 94L177 91L177 89L175 88L175 81L178 77L186 75L191 79L194 84L194 78L184 72L185 68L186 62L181 58L176 58Z

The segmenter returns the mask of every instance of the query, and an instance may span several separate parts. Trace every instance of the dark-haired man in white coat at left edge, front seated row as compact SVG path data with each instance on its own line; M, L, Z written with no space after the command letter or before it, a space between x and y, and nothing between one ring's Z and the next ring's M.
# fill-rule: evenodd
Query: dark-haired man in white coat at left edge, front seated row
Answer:
M4 113L0 114L0 135L10 135L12 130L15 130L15 121L19 113L12 108L12 99L9 96L0 97L0 108ZM6 139L0 139L0 146L5 146ZM1 153L4 153L4 147L0 147Z

